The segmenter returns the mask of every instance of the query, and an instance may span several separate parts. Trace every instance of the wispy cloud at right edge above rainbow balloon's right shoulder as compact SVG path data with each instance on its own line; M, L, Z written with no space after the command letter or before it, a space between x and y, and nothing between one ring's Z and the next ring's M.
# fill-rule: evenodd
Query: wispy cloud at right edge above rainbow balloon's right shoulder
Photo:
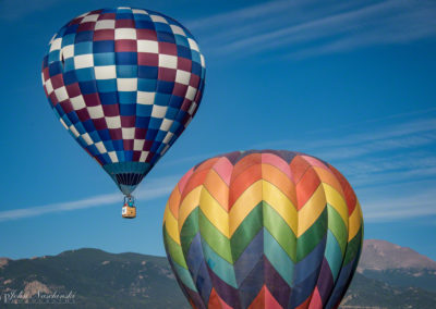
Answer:
M362 187L435 177L435 148L436 119L426 118L311 143L306 149L334 163L354 186Z

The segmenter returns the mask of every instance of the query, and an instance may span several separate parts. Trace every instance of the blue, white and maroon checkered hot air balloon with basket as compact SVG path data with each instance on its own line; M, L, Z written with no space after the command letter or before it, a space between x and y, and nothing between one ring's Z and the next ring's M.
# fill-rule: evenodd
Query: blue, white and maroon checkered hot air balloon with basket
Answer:
M125 195L182 134L199 106L205 61L192 34L164 14L102 9L64 25L43 61L49 103Z

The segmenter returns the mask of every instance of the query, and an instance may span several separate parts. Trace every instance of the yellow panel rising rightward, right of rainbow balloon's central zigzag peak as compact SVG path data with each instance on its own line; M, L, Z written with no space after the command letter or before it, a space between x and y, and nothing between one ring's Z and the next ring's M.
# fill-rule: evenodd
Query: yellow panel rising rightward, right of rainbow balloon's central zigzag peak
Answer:
M310 228L327 207L326 193L320 184L306 203L299 211L299 231L296 237L300 237Z

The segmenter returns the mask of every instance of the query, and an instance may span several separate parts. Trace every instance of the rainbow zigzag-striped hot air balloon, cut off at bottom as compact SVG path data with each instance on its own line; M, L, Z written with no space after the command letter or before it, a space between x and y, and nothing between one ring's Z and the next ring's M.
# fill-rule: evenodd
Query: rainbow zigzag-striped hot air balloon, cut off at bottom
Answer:
M282 150L199 163L173 189L164 219L168 260L193 308L337 308L362 237L347 180Z

